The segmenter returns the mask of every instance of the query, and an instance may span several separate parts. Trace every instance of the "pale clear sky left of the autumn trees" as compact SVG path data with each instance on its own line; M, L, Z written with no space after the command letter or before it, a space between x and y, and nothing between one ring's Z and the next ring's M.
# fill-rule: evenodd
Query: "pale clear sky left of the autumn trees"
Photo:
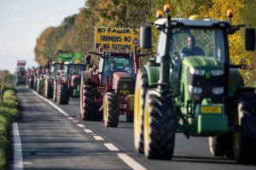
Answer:
M18 59L26 66L35 62L34 47L41 32L60 26L78 14L85 0L0 0L0 70L15 71Z

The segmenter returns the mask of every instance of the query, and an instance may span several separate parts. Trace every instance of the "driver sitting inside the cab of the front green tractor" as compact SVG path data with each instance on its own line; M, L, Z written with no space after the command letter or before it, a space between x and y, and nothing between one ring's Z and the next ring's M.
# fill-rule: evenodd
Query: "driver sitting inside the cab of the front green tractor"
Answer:
M189 55L205 55L203 50L195 46L195 37L190 35L187 39L187 47L181 49L180 54Z

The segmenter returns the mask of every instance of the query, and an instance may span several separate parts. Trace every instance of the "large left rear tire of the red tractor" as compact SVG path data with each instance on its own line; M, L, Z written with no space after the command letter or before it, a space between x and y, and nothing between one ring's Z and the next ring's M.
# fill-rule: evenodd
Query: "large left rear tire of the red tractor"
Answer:
M99 109L101 105L98 105L94 98L97 94L96 85L91 82L81 82L80 92L80 116L84 121L102 121L103 114Z

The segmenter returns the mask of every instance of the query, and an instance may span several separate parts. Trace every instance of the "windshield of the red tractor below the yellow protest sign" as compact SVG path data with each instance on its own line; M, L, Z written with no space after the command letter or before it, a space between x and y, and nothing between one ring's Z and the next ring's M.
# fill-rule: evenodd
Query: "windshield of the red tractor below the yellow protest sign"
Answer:
M107 76L110 78L109 82L111 82L113 72L117 71L130 73L131 77L135 78L134 62L132 57L115 56L109 58L108 60L105 59L103 68L103 84L105 84Z

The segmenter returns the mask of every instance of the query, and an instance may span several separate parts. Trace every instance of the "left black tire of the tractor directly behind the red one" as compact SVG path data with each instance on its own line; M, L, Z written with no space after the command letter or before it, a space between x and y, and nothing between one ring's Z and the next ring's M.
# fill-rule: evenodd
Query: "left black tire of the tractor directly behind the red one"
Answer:
M59 84L57 87L57 103L59 105L68 105L67 84Z

